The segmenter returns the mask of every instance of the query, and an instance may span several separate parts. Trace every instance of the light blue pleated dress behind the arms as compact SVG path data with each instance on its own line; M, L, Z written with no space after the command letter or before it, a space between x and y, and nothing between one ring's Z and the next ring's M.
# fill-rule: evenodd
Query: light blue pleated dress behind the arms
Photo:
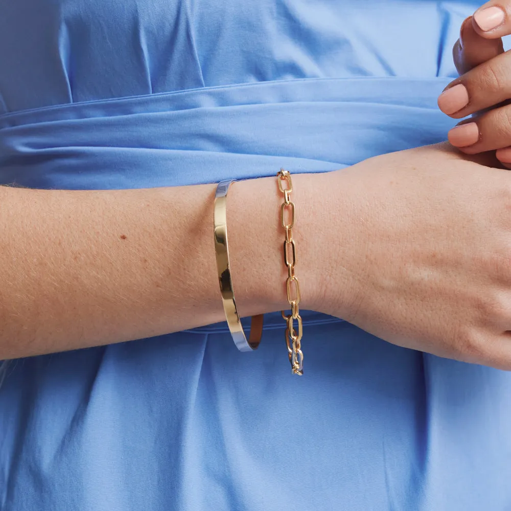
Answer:
M0 182L325 172L444 140L436 97L478 6L5 0ZM511 509L510 374L313 311L303 345L298 378L274 313L250 354L223 322L13 362L0 509Z

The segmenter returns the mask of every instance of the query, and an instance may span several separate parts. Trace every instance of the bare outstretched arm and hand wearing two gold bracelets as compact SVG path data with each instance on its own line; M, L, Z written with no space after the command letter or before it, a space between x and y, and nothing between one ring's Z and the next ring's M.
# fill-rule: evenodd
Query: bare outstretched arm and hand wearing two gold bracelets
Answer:
M477 70L499 58L495 39L474 51L468 41L480 34L465 27L458 65L480 60ZM293 176L300 308L394 344L511 370L511 175L495 154L463 152L441 144ZM222 321L214 190L0 187L0 358ZM286 307L281 203L275 177L229 191L241 316Z

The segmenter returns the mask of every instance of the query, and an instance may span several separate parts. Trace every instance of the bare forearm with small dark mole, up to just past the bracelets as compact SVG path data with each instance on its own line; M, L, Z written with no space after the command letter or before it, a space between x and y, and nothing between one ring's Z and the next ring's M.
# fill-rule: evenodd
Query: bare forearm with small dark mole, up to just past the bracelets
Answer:
M314 238L328 174L293 176L301 308L313 308ZM215 184L138 190L0 187L0 359L177 332L225 319L213 241ZM276 177L227 197L240 315L286 308Z

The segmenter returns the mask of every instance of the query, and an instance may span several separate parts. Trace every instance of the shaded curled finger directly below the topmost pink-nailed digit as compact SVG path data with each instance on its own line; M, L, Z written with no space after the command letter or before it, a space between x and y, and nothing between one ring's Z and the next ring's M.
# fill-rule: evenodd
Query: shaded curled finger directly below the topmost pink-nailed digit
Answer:
M472 16L461 24L459 39L453 48L453 58L460 75L504 52L502 39L485 39L472 26Z

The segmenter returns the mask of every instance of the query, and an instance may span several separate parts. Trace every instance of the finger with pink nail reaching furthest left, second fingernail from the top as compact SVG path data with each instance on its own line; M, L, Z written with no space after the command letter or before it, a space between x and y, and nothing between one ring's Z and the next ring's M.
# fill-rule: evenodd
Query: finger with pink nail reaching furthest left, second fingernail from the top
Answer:
M511 52L497 55L451 82L438 97L438 107L454 119L511 98Z

